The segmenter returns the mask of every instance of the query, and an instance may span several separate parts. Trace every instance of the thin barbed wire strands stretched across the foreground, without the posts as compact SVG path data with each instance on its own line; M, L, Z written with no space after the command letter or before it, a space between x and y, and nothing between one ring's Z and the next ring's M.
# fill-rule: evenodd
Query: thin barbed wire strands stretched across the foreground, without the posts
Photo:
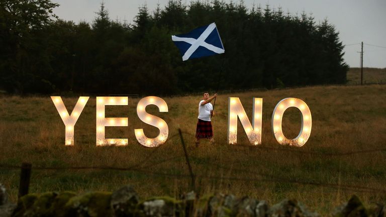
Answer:
M182 132L187 135L194 136L188 132ZM174 134L169 137L169 139L174 138L178 136L178 134ZM361 150L361 151L352 151L352 152L345 152L345 153L320 153L315 151L302 151L302 150L295 150L292 148L271 148L271 147L264 147L264 146L252 146L252 145L235 145L235 147L247 147L247 148L254 148L254 149L265 149L265 150L275 150L275 151L288 151L288 152L295 152L299 154L317 154L322 156L347 156L347 155L355 155L355 154L361 154L361 153L372 153L372 152L379 152L379 151L386 151L386 149L371 149L371 150ZM175 173L167 173L167 172L156 172L156 171L150 171L145 170L149 167L154 167L157 165L160 165L164 162L169 162L176 159L182 159L184 156L182 153L179 155L174 155L173 157L164 158L159 161L150 162L148 159L152 159L151 156L153 156L158 148L155 148L153 151L151 151L143 161L136 163L129 167L113 167L113 166L75 166L75 167L32 167L33 170L117 170L117 171L134 171L139 173L145 173L148 175L153 176L166 176L166 177L175 177L175 178L190 178L191 175L189 174L175 174ZM335 183L323 183L323 182L317 182L317 181L304 181L299 179L291 179L291 178L284 178L275 176L268 173L262 173L262 172L256 172L252 170L247 169L239 169L239 168L233 168L233 167L225 167L223 165L219 165L216 163L208 163L208 166L216 166L218 168L225 169L227 171L239 171L239 172L245 172L248 174L254 174L261 176L261 178L252 178L252 177L235 177L235 176L213 176L213 175L195 175L196 178L201 179L212 179L212 180L229 180L229 181L245 181L245 182L279 182L279 183L292 183L292 184L301 184L301 185L314 185L314 186L321 186L321 187L331 187L331 188L337 188L347 191L356 191L356 192L367 192L367 193L386 193L386 189L380 189L380 188L374 188L374 187L366 187L366 186L359 186L359 185L347 185L347 184L335 184ZM0 168L2 169L22 169L22 166L16 166L16 165L10 165L10 164L0 164Z

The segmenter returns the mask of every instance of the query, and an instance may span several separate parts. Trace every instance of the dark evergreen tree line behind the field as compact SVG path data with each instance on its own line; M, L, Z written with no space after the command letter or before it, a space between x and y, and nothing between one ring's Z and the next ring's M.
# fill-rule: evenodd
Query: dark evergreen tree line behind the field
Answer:
M101 5L89 24L58 19L50 0L0 2L0 89L17 93L175 94L346 82L326 20L243 2L170 0L133 24ZM171 35L216 22L225 54L182 61ZM220 70L222 76L219 77Z

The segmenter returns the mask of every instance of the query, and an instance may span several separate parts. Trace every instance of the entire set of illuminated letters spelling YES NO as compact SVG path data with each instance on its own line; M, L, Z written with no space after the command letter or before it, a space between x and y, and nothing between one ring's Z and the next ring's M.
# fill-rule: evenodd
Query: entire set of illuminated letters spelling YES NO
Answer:
M52 101L65 125L65 144L74 145L74 127L80 114L83 111L89 97L80 96L71 113L68 114L67 109L60 96L51 96ZM237 143L237 120L247 134L248 140L252 145L261 144L261 120L262 120L262 98L253 98L252 125L245 113L243 105L238 97L229 97L228 99L228 143ZM169 134L169 129L164 120L159 117L148 114L145 111L147 105L156 105L159 112L168 112L168 107L160 97L146 96L139 100L137 105L137 115L144 123L154 126L159 129L160 133L155 138L145 136L143 129L135 129L135 137L137 141L146 147L157 147L166 142ZM127 127L127 118L106 118L106 105L128 105L127 96L97 96L96 97L96 145L127 145L128 139L106 139L105 127ZM287 139L281 130L281 121L284 111L288 107L297 107L302 113L302 128L299 135L295 139ZM303 146L310 137L312 126L311 112L308 105L298 98L285 98L277 103L272 114L272 131L277 140L282 145L289 144L294 146Z

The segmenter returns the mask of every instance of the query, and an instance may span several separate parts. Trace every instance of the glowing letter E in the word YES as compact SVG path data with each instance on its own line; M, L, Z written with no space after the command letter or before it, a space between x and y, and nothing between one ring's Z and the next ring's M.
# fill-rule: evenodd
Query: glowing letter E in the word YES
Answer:
M127 118L105 118L105 105L128 105L127 96L96 97L96 145L127 145L128 139L106 139L105 127L127 127Z

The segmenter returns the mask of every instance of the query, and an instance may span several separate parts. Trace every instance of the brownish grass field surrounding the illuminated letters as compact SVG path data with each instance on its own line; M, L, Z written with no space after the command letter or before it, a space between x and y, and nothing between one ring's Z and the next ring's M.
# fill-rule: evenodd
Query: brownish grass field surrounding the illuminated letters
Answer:
M263 98L262 145L248 146L238 125L238 145L227 145L228 96L240 97L251 120L252 97ZM271 132L271 115L278 101L286 97L303 99L312 113L312 132L301 148L277 144ZM386 148L386 85L315 86L256 92L219 94L213 118L216 143L203 141L194 146L198 102L201 95L165 97L168 113L155 106L147 111L163 118L169 139L159 148L141 146L134 129L144 128L148 137L156 128L141 123L136 115L139 98L129 106L107 106L106 117L128 117L128 127L107 128L109 138L128 138L125 147L96 147L95 97L90 97L75 125L75 146L64 146L64 125L49 96L0 98L0 164L33 167L112 166L115 170L34 170L31 192L72 190L114 191L131 184L141 197L177 196L189 190L188 168L177 129L184 133L187 151L198 190L248 195L271 204L283 198L296 198L320 213L347 201L356 193L367 204L386 202L385 193L347 189L345 185L386 189L386 151L333 156L370 149ZM69 111L77 98L64 98ZM294 138L301 128L300 111L289 108L283 117L283 132ZM313 153L308 153L313 152ZM19 170L0 168L0 182L17 199ZM160 175L167 173L172 176ZM184 177L178 177L182 175ZM211 176L211 178L208 178ZM295 180L295 181L294 181ZM297 183L298 182L298 183ZM310 185L299 182L325 183ZM332 184L333 186L330 186ZM337 185L337 186L335 186ZM339 187L340 186L340 187Z

